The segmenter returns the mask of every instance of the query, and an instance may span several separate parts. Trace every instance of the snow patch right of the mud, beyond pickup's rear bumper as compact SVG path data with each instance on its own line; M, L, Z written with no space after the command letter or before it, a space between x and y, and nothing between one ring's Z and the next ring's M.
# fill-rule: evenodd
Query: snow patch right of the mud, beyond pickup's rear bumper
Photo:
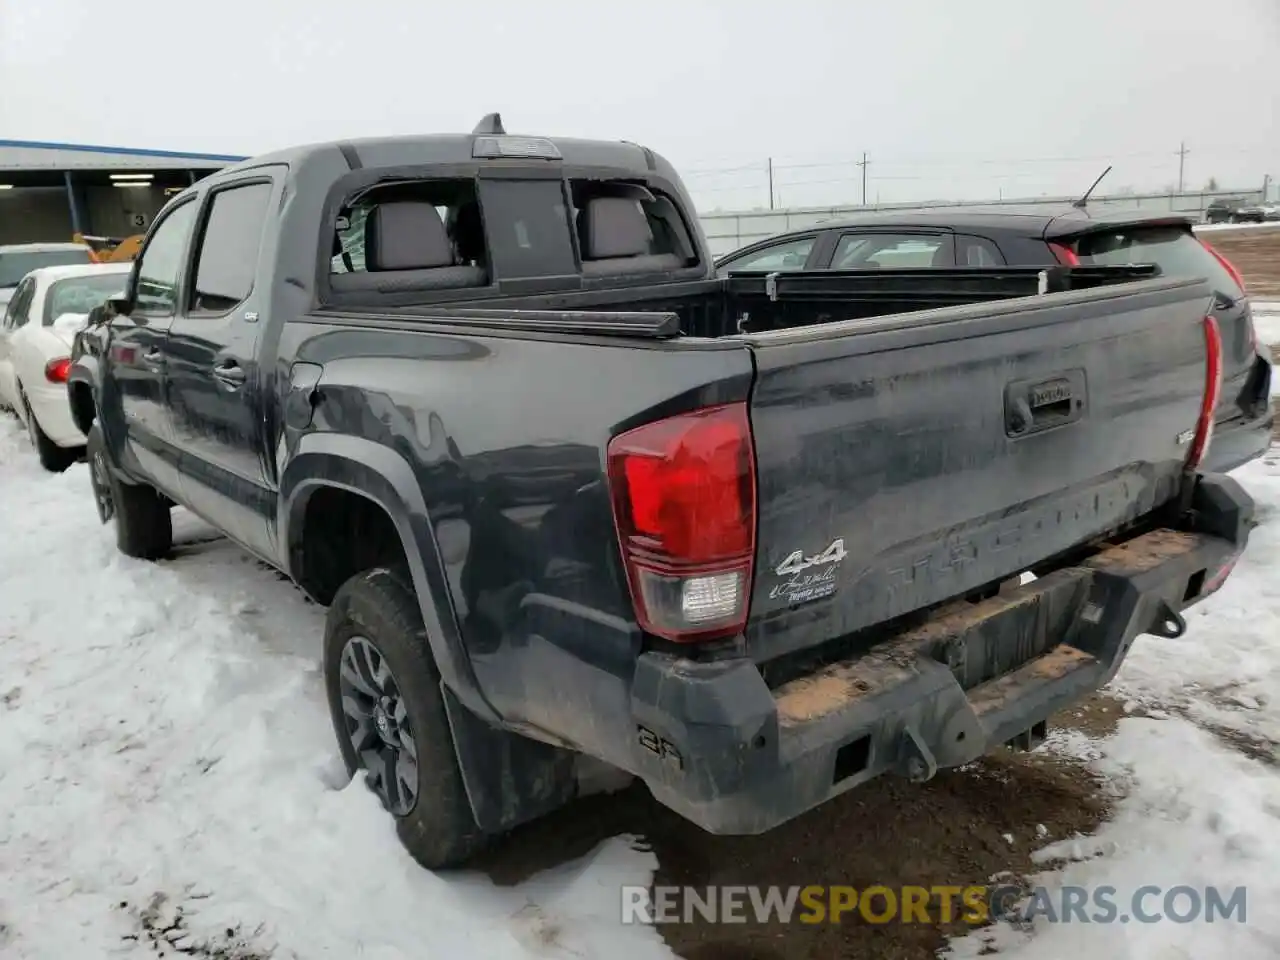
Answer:
M1120 906L1146 884L1243 886L1247 923L997 925L955 941L957 960L991 948L1009 960L1280 956L1271 906L1280 897L1280 454L1236 476L1262 513L1249 549L1226 585L1187 613L1179 640L1139 640L1114 684L1148 716L1121 719L1106 741L1076 733L1051 744L1124 791L1116 818L1039 856L1070 861L1044 886L1108 884Z

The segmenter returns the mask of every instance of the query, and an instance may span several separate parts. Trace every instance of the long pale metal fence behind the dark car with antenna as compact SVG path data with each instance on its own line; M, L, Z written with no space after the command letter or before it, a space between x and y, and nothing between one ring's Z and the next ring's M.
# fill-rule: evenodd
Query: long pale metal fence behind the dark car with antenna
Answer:
M1215 191L1196 193L1138 193L1100 196L1089 200L1089 210L1106 214L1140 211L1144 214L1180 214L1193 220L1204 216L1213 200L1235 200L1245 204L1262 201L1262 191ZM826 220L840 220L856 214L902 210L1000 211L1006 214L1059 212L1075 197L1037 197L1034 200L1000 200L986 202L929 201L920 204L869 204L867 206L795 207L790 210L750 210L741 212L713 211L700 214L707 242L717 256L765 239L777 233L812 227Z

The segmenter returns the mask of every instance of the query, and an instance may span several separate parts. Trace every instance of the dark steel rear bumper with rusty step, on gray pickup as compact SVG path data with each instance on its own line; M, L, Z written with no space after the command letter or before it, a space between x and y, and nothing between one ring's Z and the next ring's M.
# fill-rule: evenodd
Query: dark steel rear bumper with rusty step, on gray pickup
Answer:
M1018 590L957 603L860 657L771 690L746 659L640 658L635 769L713 833L759 833L881 773L927 780L1028 735L1110 680L1139 634L1178 636L1243 550L1253 502L1202 479L1185 530L1156 530ZM968 660L1020 666L964 689Z

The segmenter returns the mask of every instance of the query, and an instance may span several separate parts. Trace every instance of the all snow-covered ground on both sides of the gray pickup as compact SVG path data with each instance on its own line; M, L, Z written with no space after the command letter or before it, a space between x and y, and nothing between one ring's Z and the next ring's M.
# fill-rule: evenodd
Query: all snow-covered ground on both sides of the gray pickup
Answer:
M1120 677L1148 716L1056 744L1125 799L1047 851L1073 861L1044 882L1247 884L1248 923L1001 927L957 956L1280 954L1280 457L1240 479L1263 512L1248 554ZM655 867L628 837L518 887L419 869L343 783L321 612L234 547L184 522L173 559L120 557L84 467L44 474L8 417L0 520L0 956L156 956L157 938L228 959L671 956L617 923L618 886Z

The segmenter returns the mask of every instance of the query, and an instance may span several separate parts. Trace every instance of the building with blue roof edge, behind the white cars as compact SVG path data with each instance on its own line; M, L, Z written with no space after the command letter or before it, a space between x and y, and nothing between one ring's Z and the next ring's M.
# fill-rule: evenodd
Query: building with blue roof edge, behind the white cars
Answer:
M0 243L143 233L170 196L243 159L0 140Z

